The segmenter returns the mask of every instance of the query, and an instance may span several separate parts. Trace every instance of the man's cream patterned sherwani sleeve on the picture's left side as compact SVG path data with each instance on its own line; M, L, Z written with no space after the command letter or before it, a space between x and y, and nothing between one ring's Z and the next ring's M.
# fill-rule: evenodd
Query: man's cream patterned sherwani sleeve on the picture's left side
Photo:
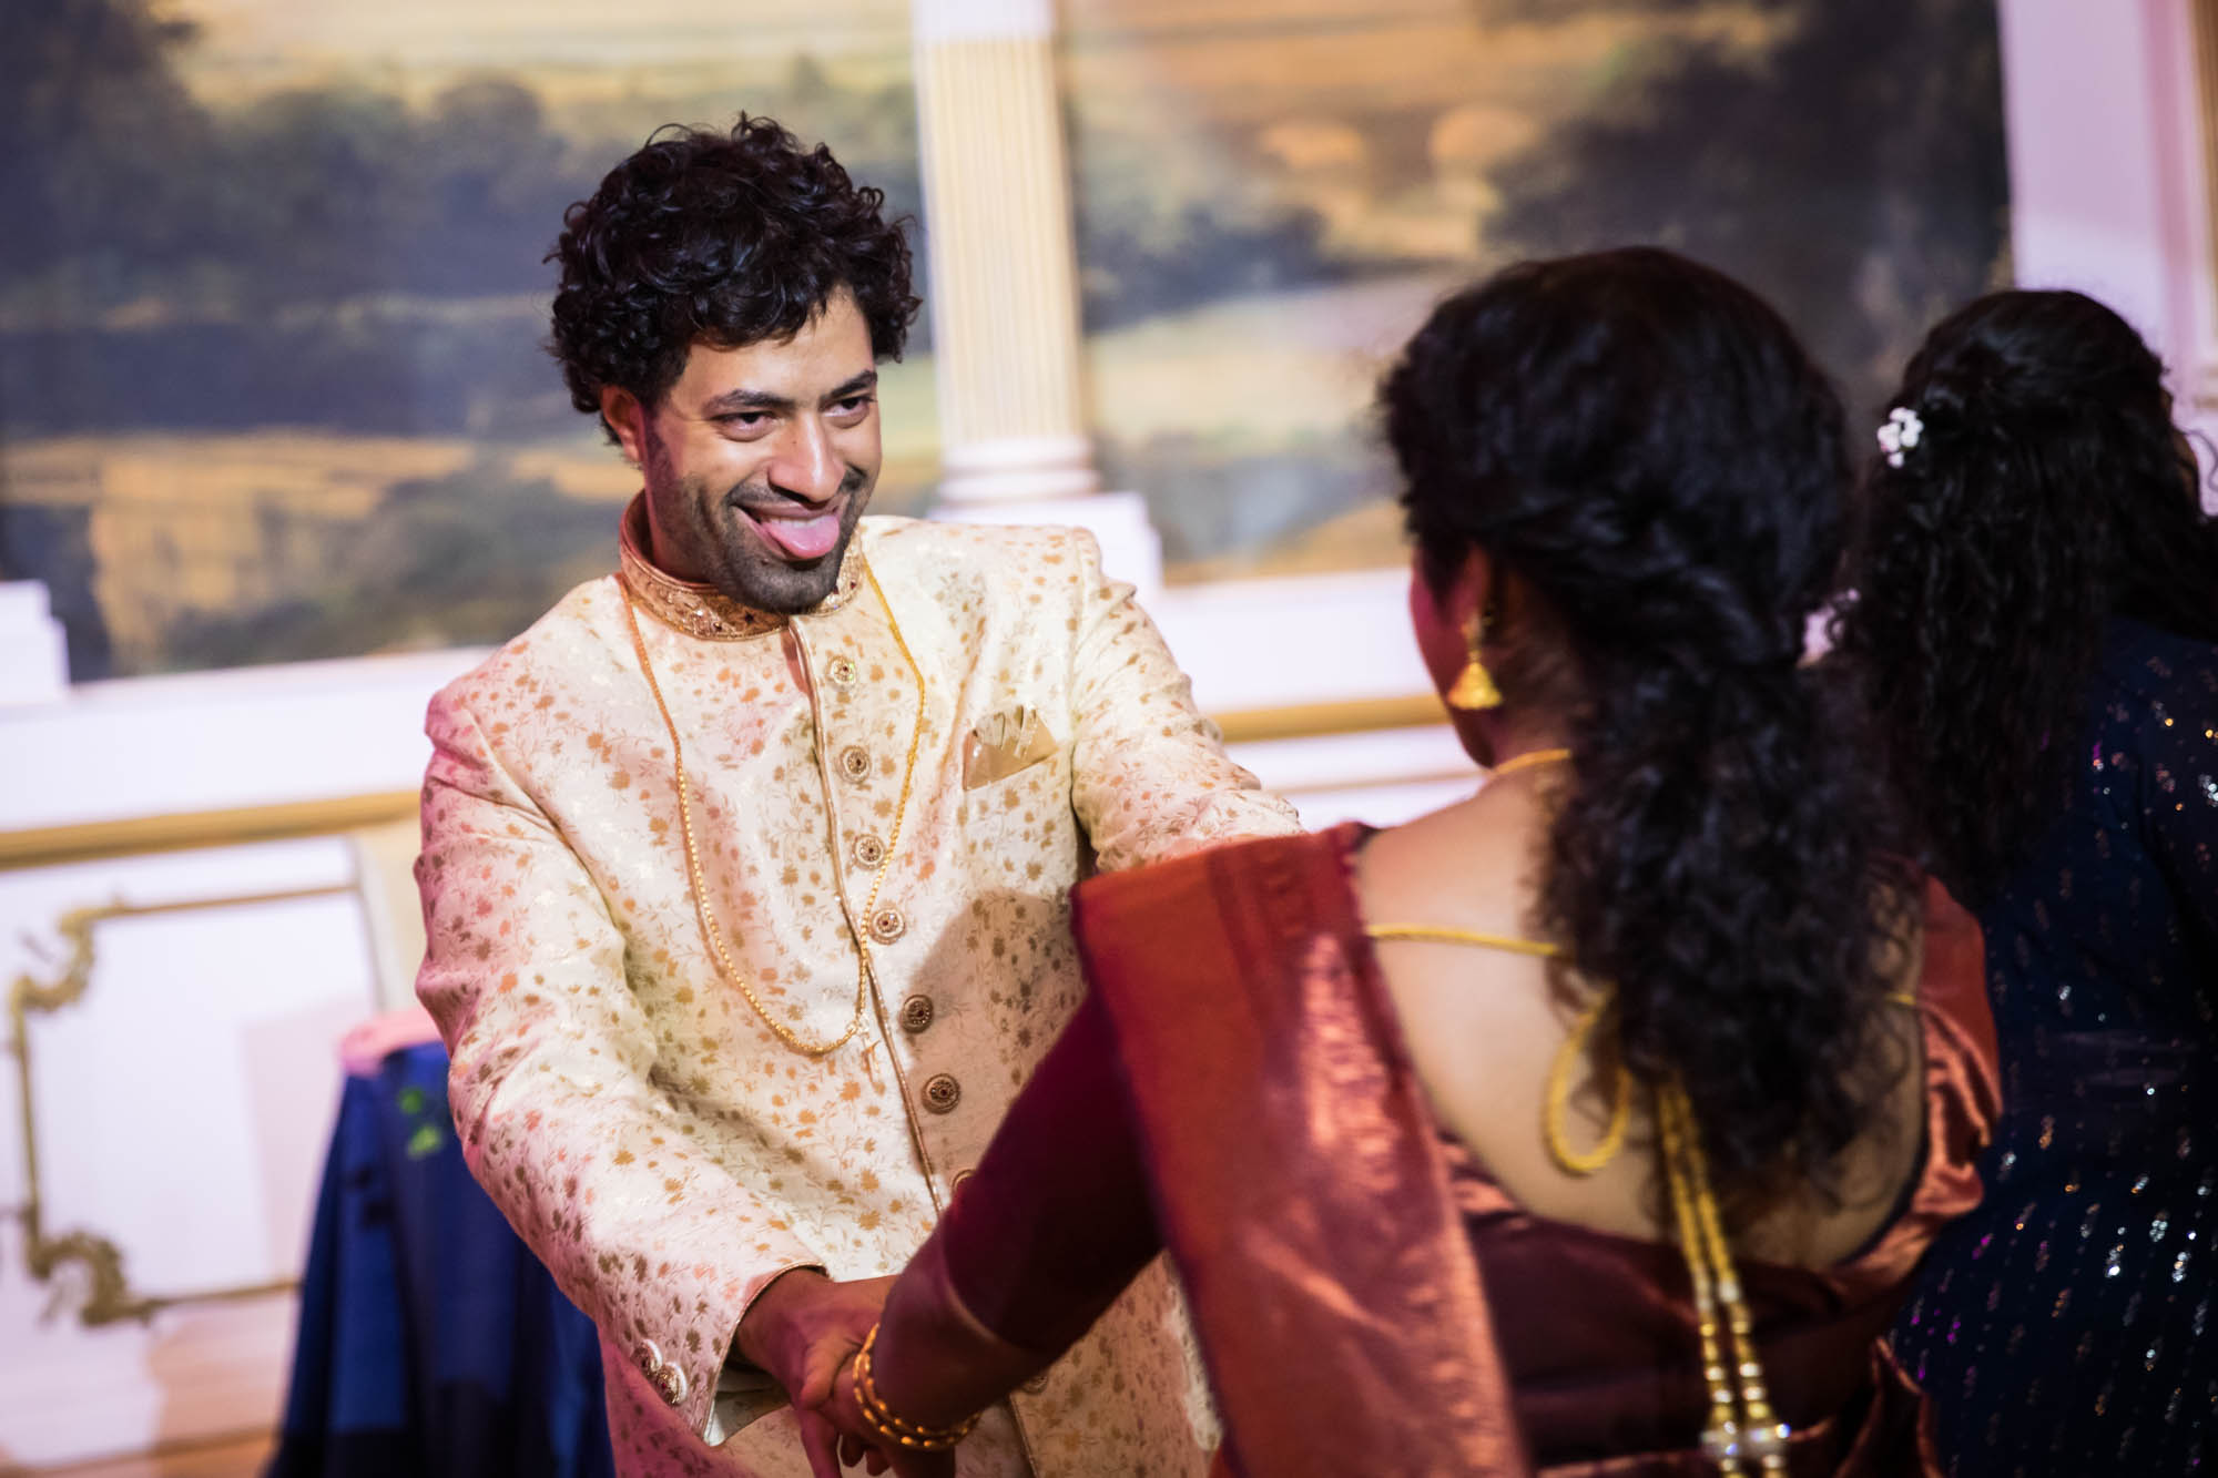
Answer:
M452 1056L470 1172L603 1338L708 1440L747 1305L823 1265L783 1207L679 1132L583 863L472 712L433 701L417 994Z

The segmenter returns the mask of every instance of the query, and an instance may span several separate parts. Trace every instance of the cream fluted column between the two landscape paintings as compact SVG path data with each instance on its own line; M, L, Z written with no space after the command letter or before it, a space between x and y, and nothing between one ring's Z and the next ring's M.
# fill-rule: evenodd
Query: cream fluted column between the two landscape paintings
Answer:
M1102 493L1080 377L1078 251L1049 0L914 0L940 397L936 517L1080 524L1156 588L1136 493Z

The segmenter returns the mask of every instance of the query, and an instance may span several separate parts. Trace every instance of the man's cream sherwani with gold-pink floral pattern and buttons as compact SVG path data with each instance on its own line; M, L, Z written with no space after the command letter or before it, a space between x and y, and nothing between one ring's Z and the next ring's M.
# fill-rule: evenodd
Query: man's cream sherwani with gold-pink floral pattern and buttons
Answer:
M861 981L861 1027L794 1050L705 943L617 577L430 706L417 990L472 1172L601 1329L623 1471L798 1476L790 1411L725 1371L747 1303L918 1247L1078 1005L1078 879L1295 819L1082 533L865 519L792 619L623 553L730 959L812 1043ZM1158 1269L963 1471L1200 1474L1187 1387Z

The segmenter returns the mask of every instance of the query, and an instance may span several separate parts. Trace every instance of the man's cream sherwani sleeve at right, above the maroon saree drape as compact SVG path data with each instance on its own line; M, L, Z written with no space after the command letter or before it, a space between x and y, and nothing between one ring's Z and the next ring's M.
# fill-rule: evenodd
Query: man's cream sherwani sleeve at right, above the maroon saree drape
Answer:
M1224 752L1193 684L1133 588L1102 575L1078 535L1080 608L1071 652L1071 803L1105 872L1229 841L1302 830L1293 806Z

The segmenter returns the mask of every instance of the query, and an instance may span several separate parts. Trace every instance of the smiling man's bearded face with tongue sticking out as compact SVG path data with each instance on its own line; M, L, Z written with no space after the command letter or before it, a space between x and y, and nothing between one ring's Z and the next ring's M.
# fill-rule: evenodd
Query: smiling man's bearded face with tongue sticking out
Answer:
M601 391L648 486L654 564L756 610L810 610L878 482L878 366L838 288L790 340L694 344L652 408Z

